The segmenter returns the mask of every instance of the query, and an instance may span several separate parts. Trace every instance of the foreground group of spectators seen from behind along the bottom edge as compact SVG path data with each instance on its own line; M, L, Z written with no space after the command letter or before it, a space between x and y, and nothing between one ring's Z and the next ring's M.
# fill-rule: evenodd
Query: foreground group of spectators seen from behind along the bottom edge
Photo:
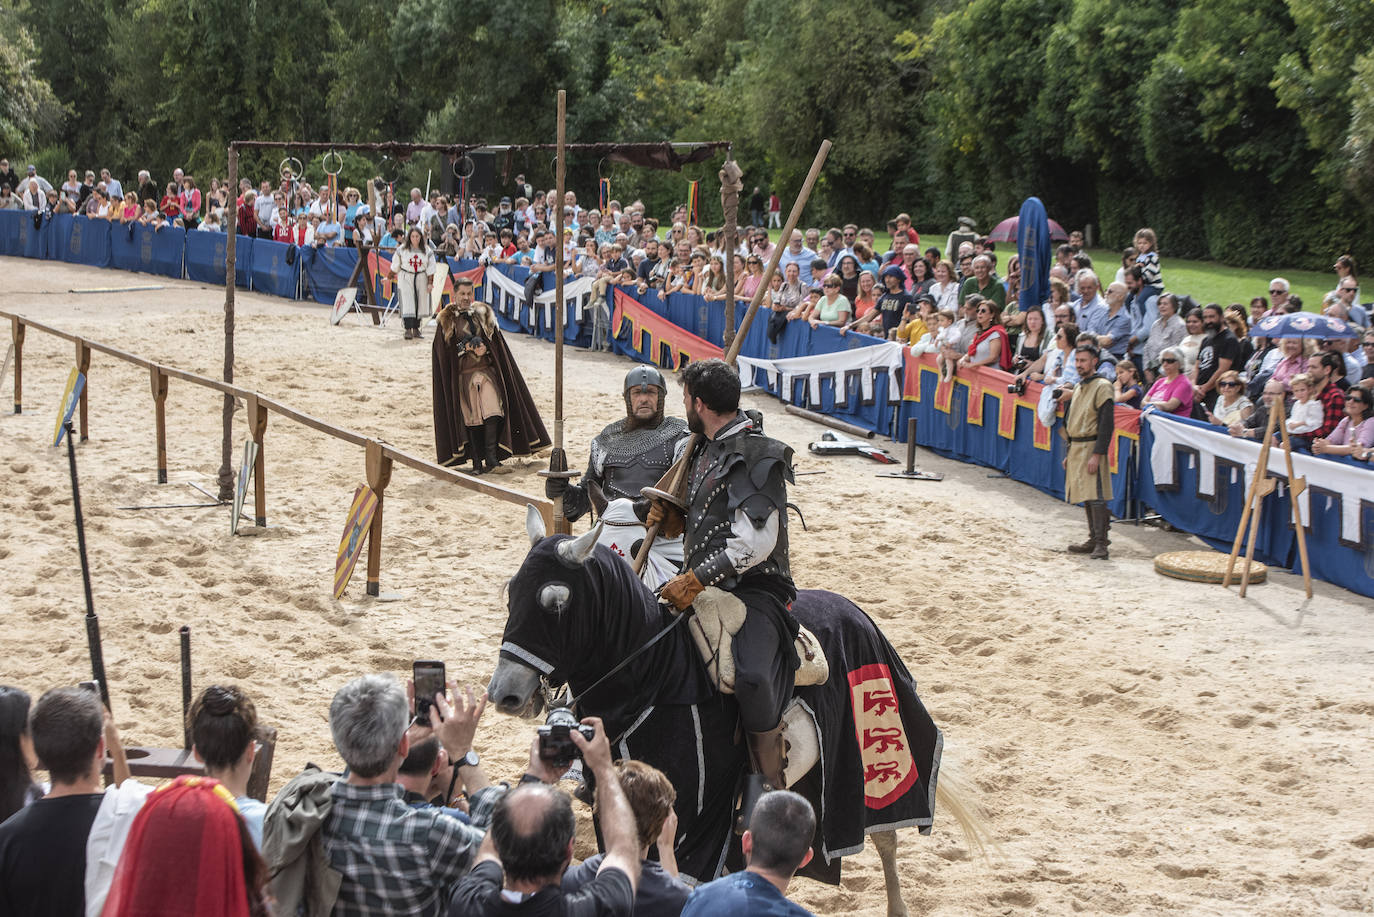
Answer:
M205 689L188 714L203 775L161 786L129 774L93 682L36 704L0 686L0 914L808 913L785 898L816 828L801 796L767 795L743 836L747 870L692 890L673 855L675 788L613 760L599 719L581 720L591 738L570 734L578 773L532 736L525 774L493 784L474 749L485 694L449 682L416 707L387 675L344 685L328 708L344 770L308 766L264 804L247 795L258 720L238 686ZM580 777L603 852L574 863L561 786Z

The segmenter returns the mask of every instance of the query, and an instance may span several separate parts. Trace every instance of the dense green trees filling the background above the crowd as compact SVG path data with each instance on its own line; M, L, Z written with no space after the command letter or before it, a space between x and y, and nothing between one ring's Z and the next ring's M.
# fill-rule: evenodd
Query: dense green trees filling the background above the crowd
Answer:
M565 87L570 139L731 139L746 191L785 202L831 137L813 223L988 227L1037 194L1106 245L1149 224L1176 256L1374 261L1370 0L22 0L5 19L0 143L45 164L223 175L229 139L551 140ZM686 173L708 219L717 164ZM511 165L551 180L551 157ZM684 197L684 176L569 165L657 213Z

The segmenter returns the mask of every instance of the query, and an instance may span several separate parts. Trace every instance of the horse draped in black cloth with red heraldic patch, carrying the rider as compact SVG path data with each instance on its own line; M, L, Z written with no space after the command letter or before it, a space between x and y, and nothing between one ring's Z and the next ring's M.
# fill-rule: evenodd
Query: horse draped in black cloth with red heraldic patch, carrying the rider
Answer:
M580 538L544 536L530 509L532 547L508 586L510 617L488 694L507 714L536 716L541 681L567 685L583 716L600 716L613 752L662 770L677 789L677 863L709 881L739 868L732 810L746 755L734 696L712 685L684 627L640 650L675 615L614 551ZM872 620L834 593L802 590L793 613L824 650L830 678L798 687L815 723L819 760L790 789L816 810L816 855L802 874L840 881L840 858L872 835L888 880L889 914L905 913L897 888L894 829L929 833L940 769L940 730L896 650ZM584 692L588 692L585 693Z

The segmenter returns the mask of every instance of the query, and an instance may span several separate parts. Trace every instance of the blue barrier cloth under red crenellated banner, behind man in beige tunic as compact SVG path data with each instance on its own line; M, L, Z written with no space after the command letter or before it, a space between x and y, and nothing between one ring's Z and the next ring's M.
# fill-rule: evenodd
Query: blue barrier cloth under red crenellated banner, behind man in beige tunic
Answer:
M908 367L911 364L908 363ZM1017 406L1013 439L998 432L1000 404L987 389L982 390L982 425L970 423L967 385L955 384L949 412L936 407L936 373L919 373L921 400L904 400L897 412L897 439L905 441L907 419L916 418L916 444L944 456L998 469L1007 477L1029 484L1057 499L1063 499L1063 455L1066 444L1059 436L1063 421L1055 421L1048 448L1035 444L1035 414L1029 407ZM1117 467L1112 473L1112 499L1107 505L1118 517L1127 516L1134 494L1132 455L1135 437L1117 430Z

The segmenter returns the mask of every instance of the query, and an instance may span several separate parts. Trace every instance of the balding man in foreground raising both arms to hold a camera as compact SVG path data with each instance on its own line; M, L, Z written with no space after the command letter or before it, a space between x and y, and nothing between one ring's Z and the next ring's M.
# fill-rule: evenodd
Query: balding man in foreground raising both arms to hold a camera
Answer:
M595 716L581 722L595 730L592 738L588 741L578 730L570 738L584 767L596 778L596 813L606 841L606 855L595 877L574 892L562 888L573 858L576 819L572 800L552 784L567 769L554 769L541 760L536 738L530 745L530 770L496 804L473 872L453 891L449 917L628 917L635 912L640 874L635 813L611 764L605 725Z

